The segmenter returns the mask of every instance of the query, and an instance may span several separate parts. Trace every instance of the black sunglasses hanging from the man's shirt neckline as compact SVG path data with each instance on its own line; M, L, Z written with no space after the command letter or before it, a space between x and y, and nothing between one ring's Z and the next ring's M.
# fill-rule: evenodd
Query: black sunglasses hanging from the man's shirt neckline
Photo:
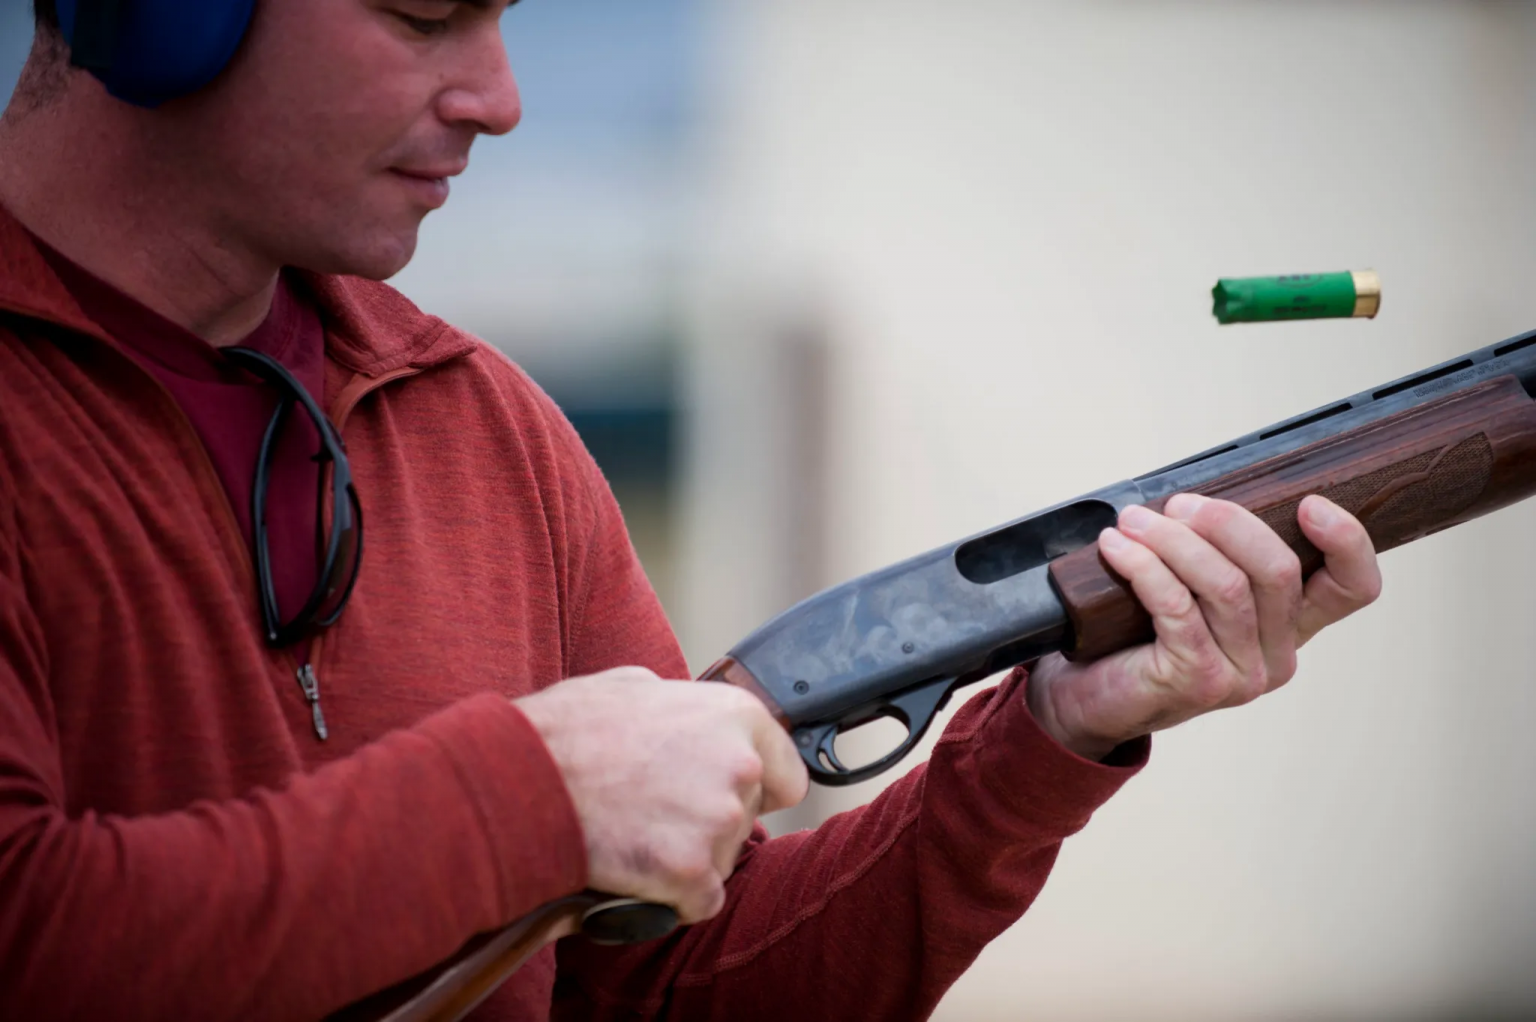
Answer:
M341 443L336 427L319 410L304 384L270 355L249 347L226 347L224 353L243 369L283 390L283 400L278 401L272 421L267 423L267 432L261 438L261 453L257 455L257 479L250 490L250 523L255 533L257 587L261 598L261 619L267 629L267 644L292 645L312 632L333 625L347 606L352 587L358 584L358 570L362 567L362 506L358 503L356 487L352 486L352 466L347 464L346 444ZM319 576L309 599L304 601L298 613L283 621L278 610L276 584L272 579L272 550L267 546L267 483L272 473L272 447L293 404L300 404L309 413L310 421L315 423L315 432L319 433L321 447L313 458L319 464L315 535L326 533L326 550L319 562ZM327 475L330 476L329 501L326 499ZM332 509L329 533L326 530L327 503Z

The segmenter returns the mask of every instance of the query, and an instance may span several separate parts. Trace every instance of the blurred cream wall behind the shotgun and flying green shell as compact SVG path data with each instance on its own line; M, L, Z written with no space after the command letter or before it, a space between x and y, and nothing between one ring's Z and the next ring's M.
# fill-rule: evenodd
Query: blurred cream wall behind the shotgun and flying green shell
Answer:
M705 290L826 338L828 581L1536 326L1528 5L708 17ZM1364 266L1370 323L1209 314L1218 275ZM1533 523L1389 555L1287 690L1160 736L940 1017L1536 1017ZM700 587L763 556L702 553ZM702 658L753 618L680 624Z

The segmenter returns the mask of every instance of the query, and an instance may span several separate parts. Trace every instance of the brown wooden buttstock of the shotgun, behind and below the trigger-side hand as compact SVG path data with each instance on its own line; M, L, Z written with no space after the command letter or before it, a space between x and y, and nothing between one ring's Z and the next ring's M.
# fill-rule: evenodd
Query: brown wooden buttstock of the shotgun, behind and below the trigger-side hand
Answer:
M725 656L699 681L723 681L745 689L768 707L785 728L790 719L750 670ZM511 977L522 964L562 931L574 931L588 913L602 911L614 894L582 891L535 908L501 930L482 933L458 954L425 973L358 1000L326 1022L458 1022ZM676 919L673 919L676 922ZM633 939L633 937L630 937Z

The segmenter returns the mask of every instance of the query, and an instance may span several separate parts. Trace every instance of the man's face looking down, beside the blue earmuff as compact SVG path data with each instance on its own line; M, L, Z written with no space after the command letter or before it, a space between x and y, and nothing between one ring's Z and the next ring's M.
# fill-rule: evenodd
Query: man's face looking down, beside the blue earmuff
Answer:
M410 261L479 134L522 114L508 0L260 0L214 86L164 108L189 200L280 264L384 278Z

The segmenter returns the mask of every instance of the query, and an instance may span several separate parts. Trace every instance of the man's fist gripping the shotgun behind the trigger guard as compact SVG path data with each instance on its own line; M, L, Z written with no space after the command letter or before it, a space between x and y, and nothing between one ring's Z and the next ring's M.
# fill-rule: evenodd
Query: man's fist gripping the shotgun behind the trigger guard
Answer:
M682 922L720 911L753 822L799 802L809 784L790 736L731 685L619 667L518 707L576 804L590 885L671 905Z

